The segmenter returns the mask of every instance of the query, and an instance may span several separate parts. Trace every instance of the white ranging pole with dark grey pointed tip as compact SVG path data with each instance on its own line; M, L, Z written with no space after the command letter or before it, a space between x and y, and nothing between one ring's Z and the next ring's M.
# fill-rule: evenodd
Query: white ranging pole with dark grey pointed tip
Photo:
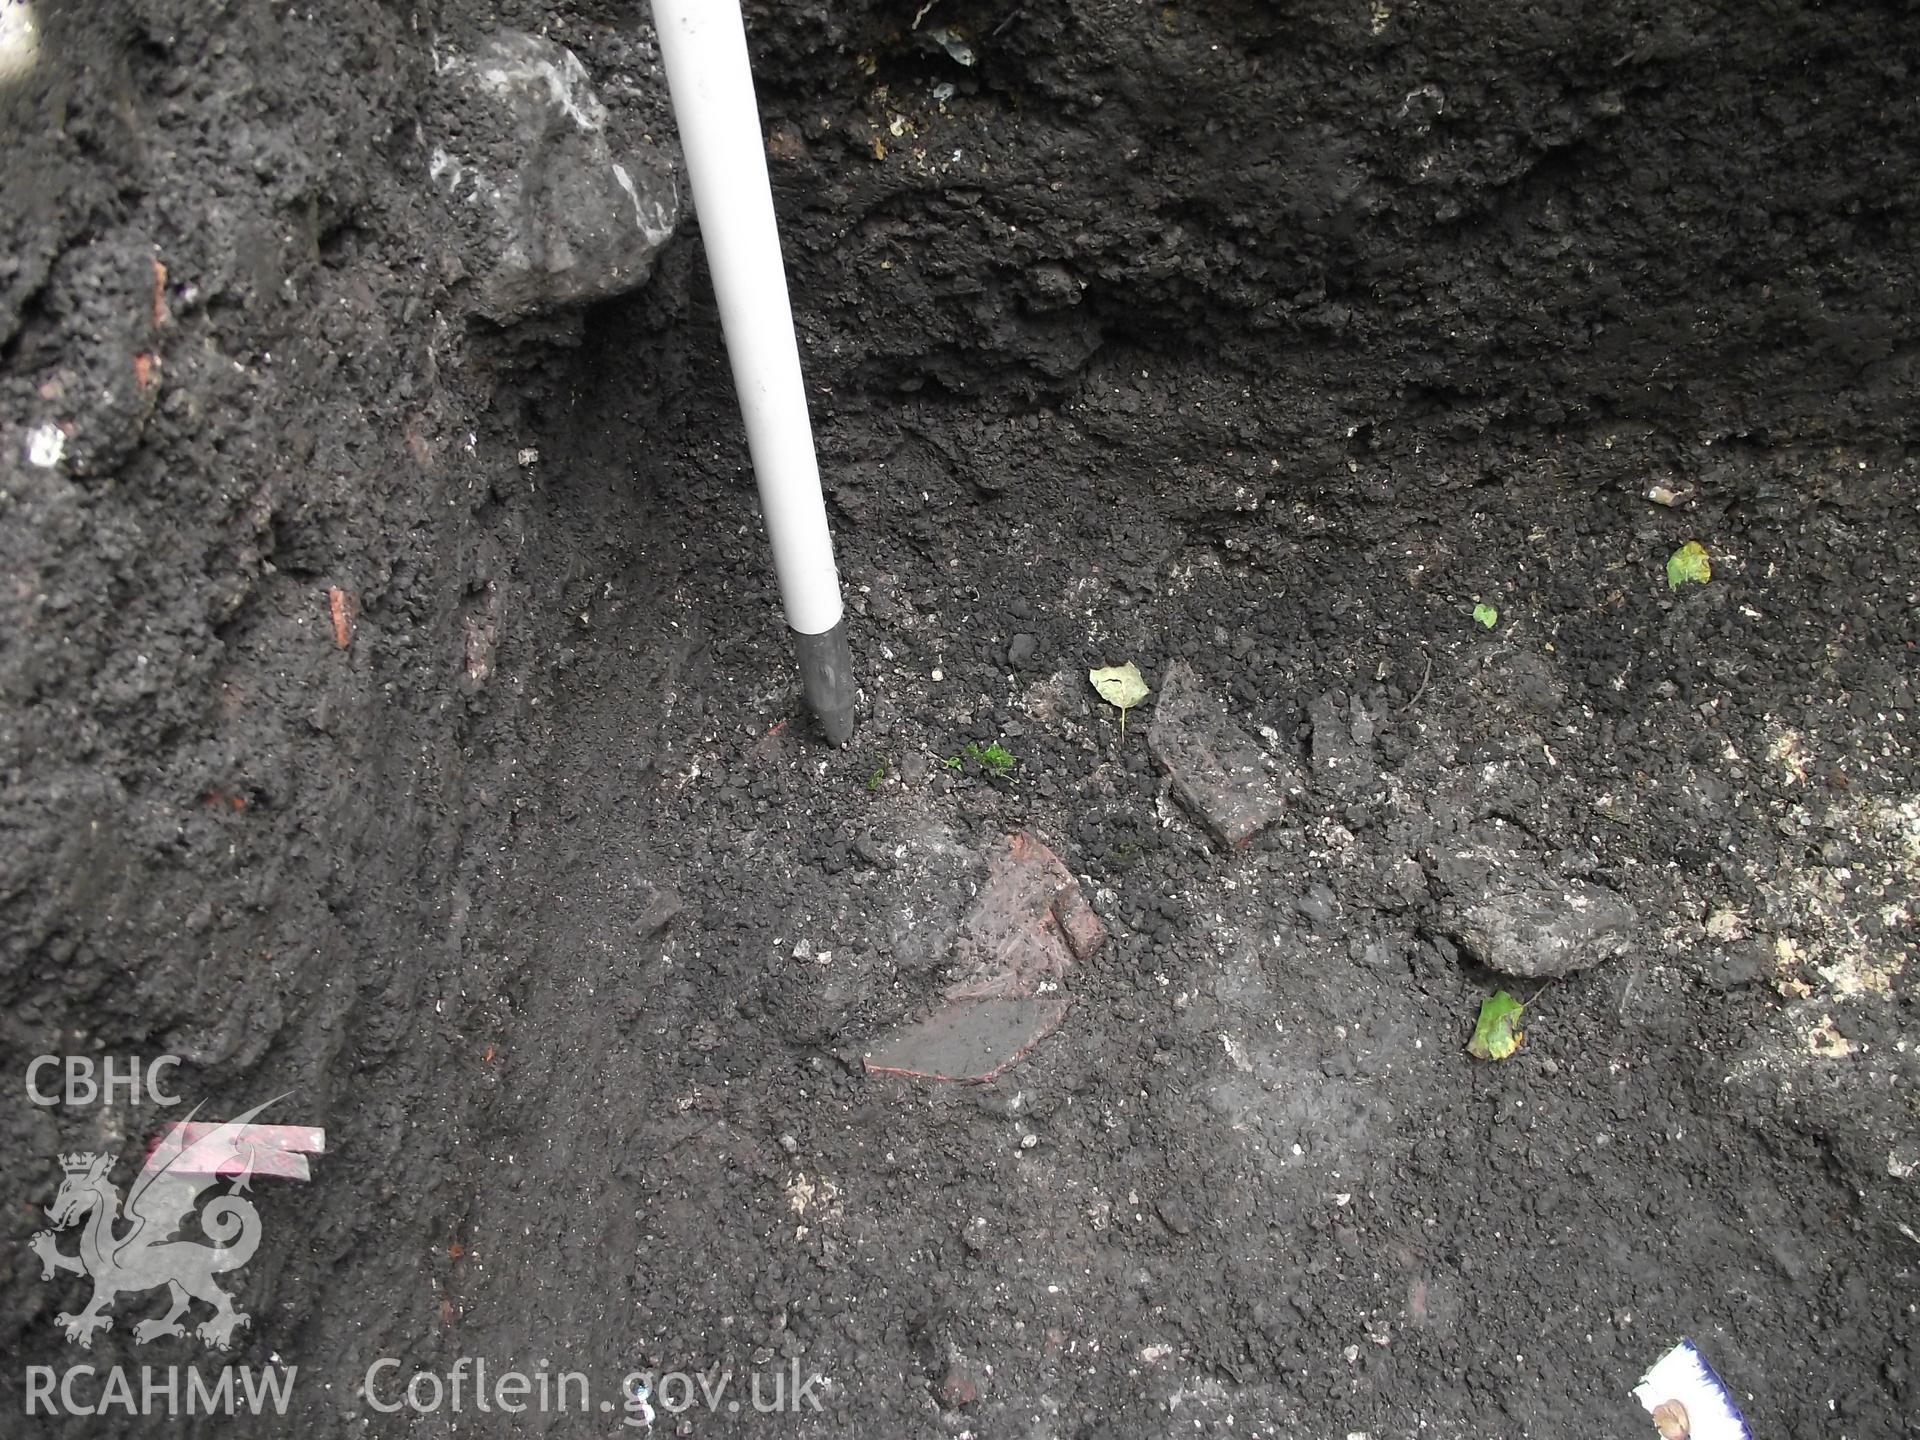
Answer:
M843 745L852 735L852 657L793 340L747 27L739 0L653 0L653 25L801 680L828 739Z

